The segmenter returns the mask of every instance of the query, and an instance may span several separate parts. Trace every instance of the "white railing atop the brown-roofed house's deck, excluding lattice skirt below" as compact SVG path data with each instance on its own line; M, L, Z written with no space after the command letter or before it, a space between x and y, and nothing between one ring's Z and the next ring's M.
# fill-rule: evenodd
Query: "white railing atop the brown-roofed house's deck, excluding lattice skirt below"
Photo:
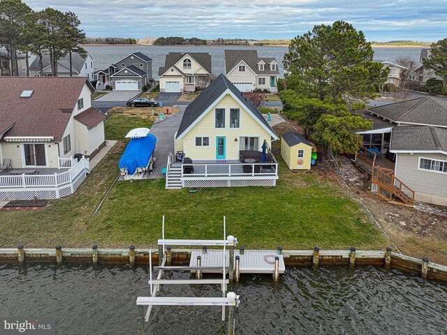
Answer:
M66 158L63 164L68 164ZM75 159L70 161L70 165L76 162ZM18 176L0 176L0 188L20 188L20 187L59 187L61 185L73 183L73 180L83 171L90 171L89 159L82 157L76 162L71 169L62 173L29 175L21 174Z

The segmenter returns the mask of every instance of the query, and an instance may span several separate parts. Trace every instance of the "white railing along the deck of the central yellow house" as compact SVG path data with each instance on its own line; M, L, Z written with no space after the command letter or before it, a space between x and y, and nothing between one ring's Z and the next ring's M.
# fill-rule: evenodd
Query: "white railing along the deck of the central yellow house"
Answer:
M189 166L194 171L188 173ZM185 173L185 171L187 171ZM278 163L210 163L210 164L182 164L182 178L194 177L212 177L212 176L228 176L228 177L247 177L254 176L278 176Z

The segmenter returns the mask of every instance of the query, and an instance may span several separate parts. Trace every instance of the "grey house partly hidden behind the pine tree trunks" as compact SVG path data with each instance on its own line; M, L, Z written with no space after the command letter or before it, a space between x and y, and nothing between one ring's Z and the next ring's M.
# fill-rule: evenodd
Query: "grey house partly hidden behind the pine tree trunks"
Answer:
M43 55L42 57L43 76L51 77L51 63L50 55ZM81 57L77 52L71 54L71 71L73 77L87 77L88 80L94 80L94 59L88 54L86 57ZM29 66L31 77L40 77L41 68L39 66L39 57L36 57ZM57 76L70 77L70 55L66 55L57 60Z

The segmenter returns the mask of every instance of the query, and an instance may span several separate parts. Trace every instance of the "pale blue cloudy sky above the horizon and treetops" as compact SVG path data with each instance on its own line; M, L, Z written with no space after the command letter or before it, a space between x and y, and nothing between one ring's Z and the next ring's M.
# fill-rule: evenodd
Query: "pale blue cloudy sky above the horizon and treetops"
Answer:
M447 0L22 0L78 15L87 36L293 38L345 20L369 41L447 37Z

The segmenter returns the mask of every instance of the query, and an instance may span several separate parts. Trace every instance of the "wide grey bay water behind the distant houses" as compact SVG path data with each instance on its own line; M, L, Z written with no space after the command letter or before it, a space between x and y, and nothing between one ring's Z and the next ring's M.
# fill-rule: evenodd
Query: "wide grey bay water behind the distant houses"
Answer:
M212 73L219 75L225 72L225 59L223 50L225 49L254 49L258 50L259 57L274 57L278 62L278 69L283 76L282 60L288 48L283 46L158 46L158 45L126 45L126 46L86 46L84 47L95 59L95 69L104 69L112 63L119 62L131 52L140 51L152 58L152 75L159 78L159 67L164 66L165 57L169 52L208 52L212 60ZM420 48L374 48L374 59L388 60L394 62L397 57L409 57L418 62Z

